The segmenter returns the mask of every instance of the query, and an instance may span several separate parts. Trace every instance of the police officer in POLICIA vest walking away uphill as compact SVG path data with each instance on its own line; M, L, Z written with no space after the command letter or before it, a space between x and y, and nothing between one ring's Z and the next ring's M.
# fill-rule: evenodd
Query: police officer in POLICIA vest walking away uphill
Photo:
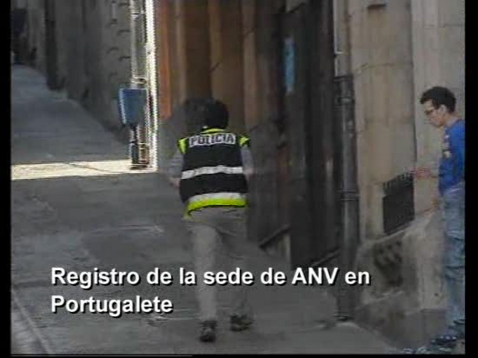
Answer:
M186 100L189 120L202 123L199 133L178 141L168 168L170 182L179 188L185 204L185 222L191 233L197 274L196 294L203 342L216 339L216 286L206 285L203 275L215 271L216 246L225 245L231 269L247 271L245 244L248 181L253 173L249 138L226 130L228 110L213 98ZM231 271L232 271L231 270ZM231 286L230 329L252 324L247 285Z

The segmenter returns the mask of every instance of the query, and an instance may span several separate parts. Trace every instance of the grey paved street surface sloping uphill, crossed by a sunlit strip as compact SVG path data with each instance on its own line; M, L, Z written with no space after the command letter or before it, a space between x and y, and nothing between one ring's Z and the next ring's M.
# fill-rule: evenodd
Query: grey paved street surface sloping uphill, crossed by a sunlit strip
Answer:
M193 270L182 205L162 174L129 169L127 145L76 102L49 91L35 70L12 66L12 353L385 353L387 343L352 323L328 326L335 301L321 286L252 286L256 324L228 330L228 287L220 288L216 343L197 340ZM253 244L253 273L268 267L292 277L284 262ZM66 271L136 271L137 286L52 285ZM146 273L170 271L174 284L152 286ZM65 300L171 300L170 314L51 312Z

